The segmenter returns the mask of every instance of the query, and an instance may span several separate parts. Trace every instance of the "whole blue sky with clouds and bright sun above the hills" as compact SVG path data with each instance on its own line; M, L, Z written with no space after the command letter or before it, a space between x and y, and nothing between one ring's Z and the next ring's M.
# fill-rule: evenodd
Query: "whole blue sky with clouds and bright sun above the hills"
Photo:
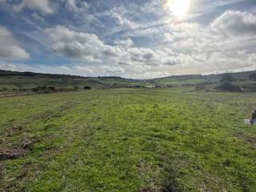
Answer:
M0 0L0 69L160 78L256 69L256 0Z

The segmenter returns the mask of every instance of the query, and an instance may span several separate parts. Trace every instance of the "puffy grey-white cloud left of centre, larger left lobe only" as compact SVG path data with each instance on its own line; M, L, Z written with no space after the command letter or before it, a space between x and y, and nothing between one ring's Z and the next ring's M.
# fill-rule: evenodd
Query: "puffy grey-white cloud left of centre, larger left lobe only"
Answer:
M48 28L46 34L53 41L52 49L66 58L95 61L117 57L120 52L118 47L106 45L96 34L76 32L65 26Z

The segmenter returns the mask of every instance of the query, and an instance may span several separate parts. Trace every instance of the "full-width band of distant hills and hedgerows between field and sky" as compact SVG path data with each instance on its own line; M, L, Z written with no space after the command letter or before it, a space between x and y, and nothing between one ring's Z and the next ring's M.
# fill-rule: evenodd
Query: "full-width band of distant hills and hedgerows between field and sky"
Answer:
M234 74L178 75L166 78L136 80L120 77L89 78L0 70L0 96L47 94L90 89L154 89L177 86L193 86L196 91L216 91L214 88L220 86L219 82L235 82L241 90L251 92L256 91L254 74L254 71L249 71ZM229 90L225 87L222 88L222 86L217 90L234 91L234 87ZM238 91L238 87L235 91Z

